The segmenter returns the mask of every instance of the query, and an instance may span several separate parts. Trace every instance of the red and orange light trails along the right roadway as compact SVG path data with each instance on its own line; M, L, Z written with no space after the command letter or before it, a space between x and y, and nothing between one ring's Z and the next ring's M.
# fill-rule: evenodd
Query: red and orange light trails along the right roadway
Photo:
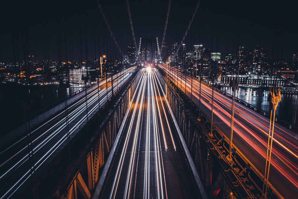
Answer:
M166 73L168 73L168 66L164 64L159 64L159 67L162 68ZM181 81L176 81L175 84L179 87L185 88L185 75L181 75L180 70L173 69L170 67L170 78L181 78ZM184 77L184 78L183 78ZM180 83L181 82L181 83ZM191 80L187 77L186 90L188 93L191 92ZM181 85L182 84L182 85ZM211 96L212 89L205 84L201 84L201 103L211 110ZM185 89L181 89L183 92ZM199 81L193 78L193 97L199 99ZM193 98L193 99L194 99ZM266 158L266 146L268 138L268 118L262 117L260 114L252 111L251 109L235 103L235 132L239 135L239 138L242 138L244 143L249 144L249 146L254 149L257 154L260 154L260 157L264 160ZM231 110L231 99L227 96L215 92L214 98L214 113L215 115L226 124L227 127L230 126L230 110ZM208 112L207 112L208 113ZM221 126L219 126L221 127ZM298 140L290 131L286 131L285 128L276 125L274 129L276 137L273 138L273 154L274 158L271 159L271 163L274 168L285 178L287 179L296 189L298 189L298 166L297 166L297 151L298 151ZM252 136L252 137L250 137ZM253 138L253 139L252 139ZM240 146L237 146L238 148ZM245 155L245 154L244 154ZM292 158L293 157L293 158ZM250 158L250 157L248 157ZM252 157L255 158L255 157ZM250 160L252 161L252 160ZM264 161L265 166L265 161ZM258 170L263 172L262 167L258 167ZM272 179L272 178L271 178ZM271 182L272 184L273 182ZM276 182L279 183L279 182Z

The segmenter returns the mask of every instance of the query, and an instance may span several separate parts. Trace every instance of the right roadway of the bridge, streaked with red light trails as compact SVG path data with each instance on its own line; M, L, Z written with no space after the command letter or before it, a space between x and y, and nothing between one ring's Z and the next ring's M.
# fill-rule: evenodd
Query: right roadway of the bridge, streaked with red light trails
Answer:
M168 68L159 65L164 71ZM178 76L177 76L178 75ZM177 82L178 77L178 82ZM170 68L170 78L185 92L185 75ZM193 102L199 105L199 81L193 78ZM191 78L187 76L187 96L191 95ZM201 111L211 118L212 89L201 84ZM231 123L231 102L227 96L214 91L213 123L229 138ZM272 127L272 126L271 126ZM235 102L233 144L264 175L268 141L269 119ZM272 128L271 128L272 129ZM296 134L279 124L274 125L269 182L284 198L298 195L298 139ZM262 189L263 184L259 185Z

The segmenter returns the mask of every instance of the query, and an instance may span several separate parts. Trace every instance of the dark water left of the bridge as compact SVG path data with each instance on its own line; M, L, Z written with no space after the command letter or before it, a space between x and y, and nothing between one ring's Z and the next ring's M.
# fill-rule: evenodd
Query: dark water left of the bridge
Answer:
M0 87L0 135L24 123L25 109L29 108L28 113L32 115L65 98L65 88L59 85L27 87L1 84ZM80 89L70 87L66 94L71 95Z

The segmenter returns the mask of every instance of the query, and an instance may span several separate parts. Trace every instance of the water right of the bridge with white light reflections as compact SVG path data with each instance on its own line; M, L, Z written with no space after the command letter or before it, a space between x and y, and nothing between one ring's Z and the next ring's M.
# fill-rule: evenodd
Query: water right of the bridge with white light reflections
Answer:
M222 87L221 90L226 91L229 94L232 94L230 87ZM237 92L236 92L237 97ZM259 88L238 88L238 98L252 104L260 109L268 111L268 90L259 89ZM293 94L282 94L281 101L278 103L276 109L276 117L280 118L289 124L292 124L294 109L295 109L295 100L297 95ZM296 115L297 118L297 115Z

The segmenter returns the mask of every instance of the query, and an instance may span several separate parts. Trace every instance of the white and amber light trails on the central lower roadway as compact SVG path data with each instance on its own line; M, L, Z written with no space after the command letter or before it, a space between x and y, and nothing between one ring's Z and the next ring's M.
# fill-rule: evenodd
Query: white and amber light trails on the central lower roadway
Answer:
M121 143L123 145L121 144L119 149L119 161L117 159L115 164L115 175L112 178L113 185L109 189L109 198L118 198L122 194L123 196L121 197L123 198L131 198L132 179L137 175L138 170L142 170L136 168L136 153L139 153L137 151L138 143L143 143L144 146L144 171L142 171L143 176L141 175L143 177L143 198L151 198L153 196L156 198L167 198L162 149L167 151L165 145L167 138L164 128L167 127L167 132L171 132L171 128L170 120L167 118L168 112L163 105L165 99L160 94L158 81L155 71L147 68L141 77L139 87L136 88L136 97L131 101L133 106L128 110L131 118L125 124L125 129L127 129L125 132L127 133L122 138L123 142ZM162 106L162 108L159 106ZM145 113L147 118L143 121L143 117L145 117L144 112L147 112ZM167 125L164 124L164 118L166 118ZM142 124L145 125L144 128L141 128ZM142 133L141 129L143 129L144 133ZM172 139L173 151L175 153L176 145L173 135L169 134L172 134L172 132L168 133L167 136L168 139ZM141 142L141 139L144 139L144 142ZM165 146L165 148L162 146ZM120 184L123 185L121 189L119 188ZM152 190L156 190L156 193L153 193Z

